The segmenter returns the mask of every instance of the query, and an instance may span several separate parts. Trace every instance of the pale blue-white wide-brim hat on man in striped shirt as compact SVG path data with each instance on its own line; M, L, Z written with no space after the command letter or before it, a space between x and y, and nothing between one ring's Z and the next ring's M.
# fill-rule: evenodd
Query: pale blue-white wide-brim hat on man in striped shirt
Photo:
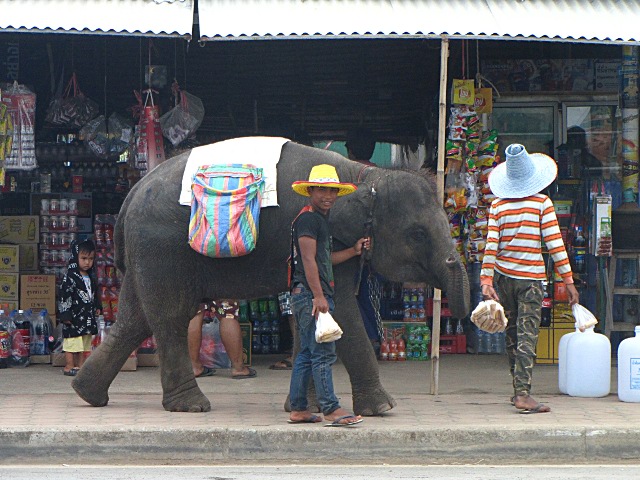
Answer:
M542 191L556 179L558 165L544 153L529 153L513 143L505 150L506 162L489 174L491 192L499 198L525 198Z

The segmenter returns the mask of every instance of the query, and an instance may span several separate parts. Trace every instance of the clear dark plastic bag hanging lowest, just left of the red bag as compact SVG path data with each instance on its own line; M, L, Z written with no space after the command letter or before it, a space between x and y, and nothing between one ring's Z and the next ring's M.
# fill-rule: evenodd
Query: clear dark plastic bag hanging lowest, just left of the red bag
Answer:
M84 139L94 155L108 158L120 155L129 147L132 132L132 125L114 112L108 121L104 115L90 120L80 129L80 137Z

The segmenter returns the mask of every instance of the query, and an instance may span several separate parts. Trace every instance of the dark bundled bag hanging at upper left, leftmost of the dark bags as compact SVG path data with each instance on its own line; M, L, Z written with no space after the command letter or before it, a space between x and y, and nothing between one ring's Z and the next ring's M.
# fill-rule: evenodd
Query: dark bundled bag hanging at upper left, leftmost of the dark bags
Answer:
M75 72L71 75L67 87L62 83L56 96L51 100L45 122L61 128L80 128L98 115L98 104L84 96L78 86Z

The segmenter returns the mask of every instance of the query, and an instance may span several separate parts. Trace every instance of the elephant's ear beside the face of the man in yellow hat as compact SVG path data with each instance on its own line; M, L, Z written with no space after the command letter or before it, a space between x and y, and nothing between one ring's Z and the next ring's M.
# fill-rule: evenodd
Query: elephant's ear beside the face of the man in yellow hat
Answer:
M335 203L329 222L336 250L353 246L365 234L371 201L371 190L366 183L362 183L354 193Z

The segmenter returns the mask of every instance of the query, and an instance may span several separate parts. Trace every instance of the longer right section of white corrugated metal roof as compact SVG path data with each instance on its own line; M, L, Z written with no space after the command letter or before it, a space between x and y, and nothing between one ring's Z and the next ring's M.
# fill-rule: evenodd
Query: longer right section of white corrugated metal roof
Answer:
M640 0L199 0L203 40L421 36L639 43Z

